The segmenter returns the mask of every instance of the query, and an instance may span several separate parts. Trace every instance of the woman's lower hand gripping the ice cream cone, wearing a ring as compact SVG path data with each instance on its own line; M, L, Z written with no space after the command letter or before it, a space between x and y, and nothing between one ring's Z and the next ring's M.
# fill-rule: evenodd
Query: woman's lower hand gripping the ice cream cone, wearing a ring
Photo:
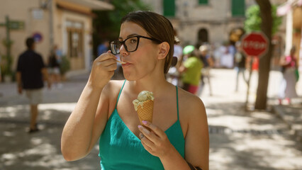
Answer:
M140 130L142 146L147 152L155 157L164 157L172 152L174 147L163 130L150 122L142 121L142 123L145 127L138 125L138 129Z

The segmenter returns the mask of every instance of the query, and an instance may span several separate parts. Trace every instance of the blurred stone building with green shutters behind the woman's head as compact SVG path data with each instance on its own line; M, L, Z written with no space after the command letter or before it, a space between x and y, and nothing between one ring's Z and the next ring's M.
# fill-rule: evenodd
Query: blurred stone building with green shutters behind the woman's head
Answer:
M253 0L144 1L172 21L183 45L228 41L232 30L243 28L245 9L255 4Z

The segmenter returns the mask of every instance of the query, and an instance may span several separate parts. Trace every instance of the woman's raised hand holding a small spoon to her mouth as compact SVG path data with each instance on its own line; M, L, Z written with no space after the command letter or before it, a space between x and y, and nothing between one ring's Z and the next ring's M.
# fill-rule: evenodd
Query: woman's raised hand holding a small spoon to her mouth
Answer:
M111 54L111 51L103 53L94 60L89 77L91 86L103 88L108 81L113 77L116 70L116 56Z

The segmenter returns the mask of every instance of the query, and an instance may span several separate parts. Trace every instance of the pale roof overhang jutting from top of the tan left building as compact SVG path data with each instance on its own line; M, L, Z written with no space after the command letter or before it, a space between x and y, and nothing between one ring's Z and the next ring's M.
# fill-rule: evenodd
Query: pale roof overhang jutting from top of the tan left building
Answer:
M114 6L105 2L105 1L99 1L99 0L64 0L71 2L72 4L79 4L82 6L89 7L93 10L113 10Z

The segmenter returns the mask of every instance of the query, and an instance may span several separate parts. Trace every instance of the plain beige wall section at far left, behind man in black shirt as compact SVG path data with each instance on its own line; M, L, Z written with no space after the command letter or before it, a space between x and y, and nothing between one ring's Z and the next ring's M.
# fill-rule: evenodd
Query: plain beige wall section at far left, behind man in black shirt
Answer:
M39 0L14 0L5 1L0 0L0 4L5 4L0 6L0 23L5 22L5 16L8 15L11 21L22 21L24 22L23 30L11 30L10 37L13 40L13 45L11 47L11 55L13 56L13 69L16 68L16 60L18 55L26 50L26 38L32 36L33 33L40 33L43 35L43 40L36 45L36 50L41 55L43 55L44 60L48 54L47 46L49 45L49 28L48 28L48 18L49 13L45 9L40 8ZM40 13L35 13L34 11L40 9ZM0 27L0 41L6 39L6 28ZM6 48L2 43L0 44L0 54L6 54Z

